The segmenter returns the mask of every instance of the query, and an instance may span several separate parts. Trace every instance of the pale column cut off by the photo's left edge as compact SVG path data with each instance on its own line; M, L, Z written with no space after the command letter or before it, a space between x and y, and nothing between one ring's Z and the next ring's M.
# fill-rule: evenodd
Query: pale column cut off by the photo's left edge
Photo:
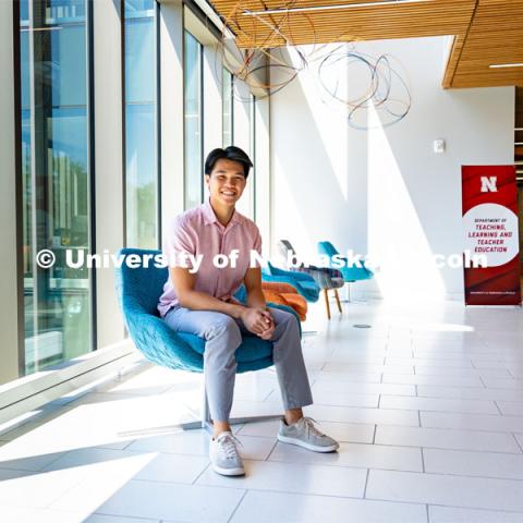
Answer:
M16 37L19 37L16 35ZM13 2L0 2L0 385L19 377ZM20 338L21 350L24 350Z

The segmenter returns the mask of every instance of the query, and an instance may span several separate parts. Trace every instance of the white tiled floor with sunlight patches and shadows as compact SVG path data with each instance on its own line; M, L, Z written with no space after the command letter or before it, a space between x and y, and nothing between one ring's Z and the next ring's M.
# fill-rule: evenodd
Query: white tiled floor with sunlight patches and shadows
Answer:
M0 434L0 521L523 522L520 308L309 317L306 414L338 453L277 443L277 422L238 426L246 476L218 476L207 435L173 427L198 409L200 377L145 364ZM239 376L233 415L280 410L272 369Z

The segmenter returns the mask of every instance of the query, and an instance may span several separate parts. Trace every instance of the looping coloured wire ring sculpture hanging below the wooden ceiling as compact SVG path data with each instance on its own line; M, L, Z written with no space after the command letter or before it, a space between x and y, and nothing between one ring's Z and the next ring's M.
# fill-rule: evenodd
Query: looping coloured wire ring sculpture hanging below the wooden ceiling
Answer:
M393 58L389 54L376 58L357 51L354 46L357 38L348 34L338 35L332 41L318 46L311 16L290 12L296 3L297 0L285 1L278 15L273 16L254 12L248 9L250 2L239 0L227 15L221 15L223 31L218 44L219 65L224 65L233 78L245 82L250 87L262 88L268 97L283 89L301 72L315 64L318 84L326 95L324 101L344 109L352 127L370 129L367 123L370 108L378 113L380 126L403 120L411 109L412 97L406 82L391 65ZM313 34L312 44L296 44L293 31L296 23L301 26L308 25ZM260 32L260 24L267 31ZM228 32L234 38L228 37ZM248 41L250 48L240 48L236 40ZM332 48L333 42L340 41L348 44ZM234 59L230 59L230 56ZM336 70L331 69L333 66ZM350 72L355 66L364 66L368 73L368 85L356 96L350 95L351 87L355 88L355 83L351 85ZM329 74L331 71L335 71L333 75ZM278 81L271 83L273 73L277 73ZM343 85L340 74L346 75L345 93L340 88ZM329 81L332 76L335 80ZM251 100L250 97L242 96L238 88L234 89L234 97L245 102Z

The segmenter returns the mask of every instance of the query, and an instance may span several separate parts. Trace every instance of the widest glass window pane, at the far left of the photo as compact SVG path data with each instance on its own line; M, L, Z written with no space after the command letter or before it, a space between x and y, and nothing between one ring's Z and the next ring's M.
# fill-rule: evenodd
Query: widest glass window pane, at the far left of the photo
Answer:
M93 349L87 2L21 0L25 373ZM36 254L50 250L45 269Z

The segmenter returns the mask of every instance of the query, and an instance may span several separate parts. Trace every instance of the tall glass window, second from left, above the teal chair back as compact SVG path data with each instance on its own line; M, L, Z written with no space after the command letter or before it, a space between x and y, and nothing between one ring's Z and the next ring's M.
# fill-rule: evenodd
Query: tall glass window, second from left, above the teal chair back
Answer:
M156 2L125 0L126 244L158 247Z

